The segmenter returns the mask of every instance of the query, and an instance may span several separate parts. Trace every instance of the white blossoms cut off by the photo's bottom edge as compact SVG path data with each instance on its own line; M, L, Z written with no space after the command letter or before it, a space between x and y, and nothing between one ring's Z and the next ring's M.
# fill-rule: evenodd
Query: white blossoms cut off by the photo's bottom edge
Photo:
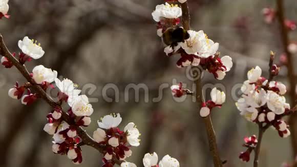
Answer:
M158 155L155 152L153 154L145 154L142 162L144 167L179 167L179 161L169 155L165 155L158 164ZM121 167L136 167L136 165L131 162L123 162L121 163Z

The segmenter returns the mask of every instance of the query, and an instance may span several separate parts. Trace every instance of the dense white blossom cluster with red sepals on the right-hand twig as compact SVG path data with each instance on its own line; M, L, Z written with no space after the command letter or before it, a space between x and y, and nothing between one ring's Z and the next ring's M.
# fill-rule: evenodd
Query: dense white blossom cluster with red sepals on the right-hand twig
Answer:
M271 75L277 75L279 68L273 65ZM260 67L248 71L248 80L244 81L242 97L236 106L247 120L266 126L273 126L281 137L288 137L290 131L283 116L291 113L289 103L283 96L286 86L278 81L268 81L262 75Z

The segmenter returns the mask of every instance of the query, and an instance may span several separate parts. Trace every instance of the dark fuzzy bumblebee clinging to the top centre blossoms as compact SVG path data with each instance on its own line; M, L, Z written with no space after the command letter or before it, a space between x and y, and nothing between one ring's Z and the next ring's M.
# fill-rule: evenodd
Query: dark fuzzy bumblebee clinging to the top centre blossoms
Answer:
M187 31L181 27L168 28L162 35L162 41L167 46L177 46L177 43L184 42L189 37Z

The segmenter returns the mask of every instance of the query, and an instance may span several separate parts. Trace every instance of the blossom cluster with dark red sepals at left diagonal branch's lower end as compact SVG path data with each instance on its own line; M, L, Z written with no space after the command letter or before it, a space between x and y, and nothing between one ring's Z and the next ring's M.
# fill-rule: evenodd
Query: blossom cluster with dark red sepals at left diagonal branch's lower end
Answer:
M118 126L122 118L120 114L112 114L104 116L98 121L99 128L94 131L93 138L96 142L104 144L103 159L105 167L113 166L114 159L125 160L132 155L130 148L138 147L140 133L133 122L128 123L124 131Z

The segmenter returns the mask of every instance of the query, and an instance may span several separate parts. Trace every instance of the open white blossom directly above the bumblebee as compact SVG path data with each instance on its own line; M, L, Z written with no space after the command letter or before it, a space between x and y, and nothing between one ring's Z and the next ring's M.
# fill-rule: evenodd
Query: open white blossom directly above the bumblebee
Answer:
M156 22L160 22L162 17L165 18L178 18L182 15L181 8L178 5L170 5L168 3L157 5L156 10L152 16Z

